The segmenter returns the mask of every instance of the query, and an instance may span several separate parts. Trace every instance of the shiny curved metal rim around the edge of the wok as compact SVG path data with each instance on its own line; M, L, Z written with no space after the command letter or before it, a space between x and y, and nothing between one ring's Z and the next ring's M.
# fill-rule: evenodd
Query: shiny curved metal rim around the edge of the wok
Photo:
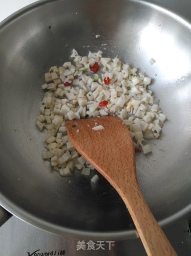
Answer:
M30 10L34 10L35 8L40 7L41 5L50 4L51 2L60 2L64 0L38 0L33 2L32 4L27 5L26 7L21 8L20 10L16 11L15 13L11 14L2 22L0 22L0 32L6 28L6 26L10 25L10 23L14 22L17 18L21 15L26 14ZM171 16L172 19L177 20L178 22L182 23L184 26L187 26L191 30L191 23L189 20L185 19L183 16L178 14L176 11L170 10L170 8L165 7L162 4L155 4L152 0L127 0L130 2L136 2L143 5L147 5L151 8L155 8L159 11L162 11L168 16ZM71 238L89 238L89 239L115 239L115 240L125 240L125 239L134 239L138 237L138 233L135 229L128 230L128 231L84 231L78 230L74 228L67 228L61 227L56 224L52 224L51 222L44 221L44 219L38 218L35 215L27 212L23 208L17 206L17 204L13 203L7 197L5 197L2 192L0 191L0 206L4 207L5 210L12 213L17 218L21 219L22 221L26 222L27 224L33 225L37 228L42 230L48 231L50 233L58 234L61 236L67 236ZM158 224L162 228L170 227L175 221L180 219L186 218L189 216L191 212L191 204L188 204L183 209L175 212L174 214L167 216L167 218L162 219L162 221L158 221Z

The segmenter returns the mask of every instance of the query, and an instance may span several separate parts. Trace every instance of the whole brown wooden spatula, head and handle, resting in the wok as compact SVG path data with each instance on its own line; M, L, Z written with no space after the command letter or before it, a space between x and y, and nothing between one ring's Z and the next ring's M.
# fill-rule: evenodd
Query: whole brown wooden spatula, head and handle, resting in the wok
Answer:
M95 131L102 125L104 129ZM94 129L93 129L94 128ZM177 255L138 188L131 134L116 116L66 123L73 146L118 191L134 221L147 255Z

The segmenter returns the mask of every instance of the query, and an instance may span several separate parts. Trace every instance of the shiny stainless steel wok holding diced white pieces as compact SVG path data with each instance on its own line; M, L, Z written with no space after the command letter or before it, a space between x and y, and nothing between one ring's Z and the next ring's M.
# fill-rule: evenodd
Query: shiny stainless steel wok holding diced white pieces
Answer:
M137 156L138 182L162 227L191 213L191 25L149 2L128 0L39 1L1 23L1 205L57 234L136 236L124 203L103 177L95 186L78 171L63 178L41 159L44 134L35 119L43 74L67 61L73 48L81 55L98 49L118 55L153 77L168 121L162 137L150 142L152 155Z

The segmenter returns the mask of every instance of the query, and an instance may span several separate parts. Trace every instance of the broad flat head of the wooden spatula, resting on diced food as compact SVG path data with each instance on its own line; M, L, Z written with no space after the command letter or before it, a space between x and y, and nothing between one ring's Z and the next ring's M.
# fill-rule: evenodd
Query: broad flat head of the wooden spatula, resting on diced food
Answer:
M94 131L102 125L104 129ZM116 188L136 180L135 153L131 134L116 116L73 120L67 135L78 152ZM116 188L116 190L118 190Z

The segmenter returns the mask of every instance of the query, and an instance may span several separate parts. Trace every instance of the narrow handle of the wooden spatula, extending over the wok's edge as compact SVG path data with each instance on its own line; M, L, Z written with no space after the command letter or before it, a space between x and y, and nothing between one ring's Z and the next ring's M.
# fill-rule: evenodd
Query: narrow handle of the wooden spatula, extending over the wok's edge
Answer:
M133 191L134 190L134 191ZM134 186L130 193L123 195L124 202L134 221L137 232L149 256L177 255L158 222L150 212L140 189Z

